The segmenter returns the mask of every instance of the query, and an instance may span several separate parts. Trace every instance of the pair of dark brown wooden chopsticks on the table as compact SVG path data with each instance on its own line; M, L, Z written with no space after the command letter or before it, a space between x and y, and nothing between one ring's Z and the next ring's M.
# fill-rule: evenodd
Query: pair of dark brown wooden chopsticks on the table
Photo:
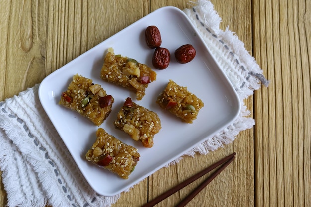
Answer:
M198 178L202 177L206 173L210 172L214 168L223 164L220 168L218 168L210 177L208 177L203 183L201 183L194 191L192 191L184 200L182 200L176 207L184 207L186 204L191 201L205 186L207 186L218 174L220 174L235 158L236 153L232 153L231 155L219 160L218 162L212 164L211 166L205 168L201 172L193 175L192 177L188 178L187 180L183 181L182 183L178 184L177 186L171 188L170 190L164 192L163 194L159 195L155 199L151 200L147 204L142 207L153 207L154 205L158 204L159 202L163 201L167 197L171 196L172 194L176 193L180 189L184 188L185 186L189 185L193 181L197 180Z

